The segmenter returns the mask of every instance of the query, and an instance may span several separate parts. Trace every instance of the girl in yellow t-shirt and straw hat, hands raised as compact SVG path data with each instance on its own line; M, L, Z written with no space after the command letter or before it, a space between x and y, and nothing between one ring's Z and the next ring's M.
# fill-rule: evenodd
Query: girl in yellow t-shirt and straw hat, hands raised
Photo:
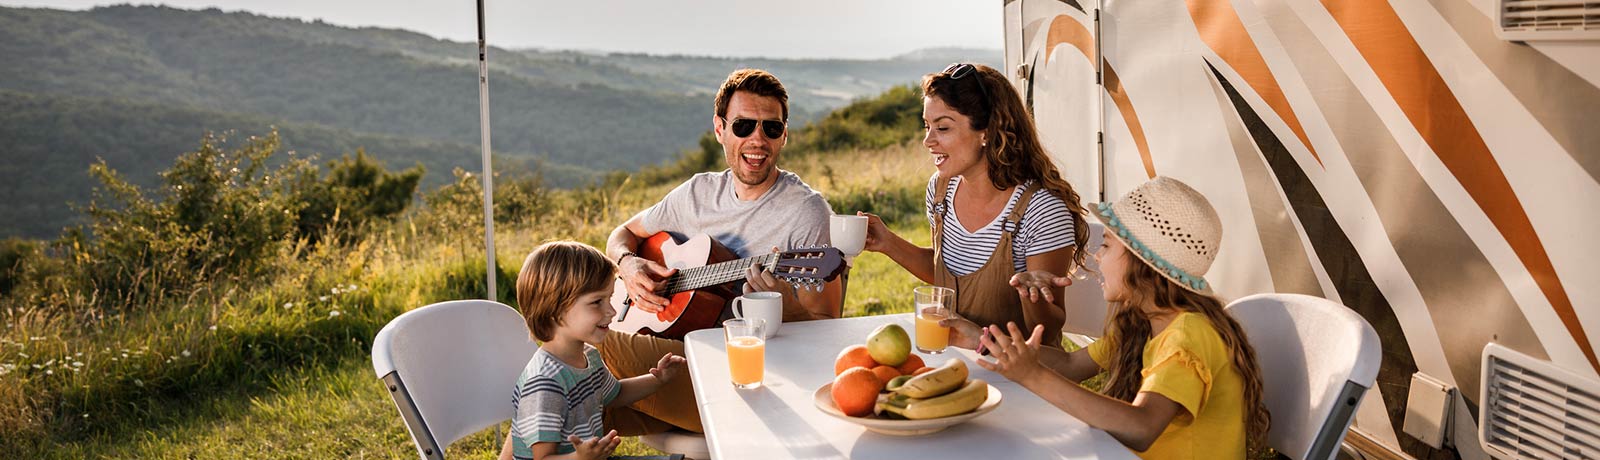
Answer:
M1040 327L990 326L995 361L979 359L1144 458L1243 458L1270 417L1245 331L1203 278L1222 224L1189 185L1157 177L1091 212L1106 224L1096 257L1114 313L1106 337L1066 353ZM1077 382L1109 371L1104 395Z

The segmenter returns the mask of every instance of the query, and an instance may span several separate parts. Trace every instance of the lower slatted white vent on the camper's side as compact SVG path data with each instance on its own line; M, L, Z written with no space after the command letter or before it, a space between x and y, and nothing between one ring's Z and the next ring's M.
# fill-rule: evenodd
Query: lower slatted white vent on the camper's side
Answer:
M1496 458L1600 458L1600 382L1483 347L1478 442Z

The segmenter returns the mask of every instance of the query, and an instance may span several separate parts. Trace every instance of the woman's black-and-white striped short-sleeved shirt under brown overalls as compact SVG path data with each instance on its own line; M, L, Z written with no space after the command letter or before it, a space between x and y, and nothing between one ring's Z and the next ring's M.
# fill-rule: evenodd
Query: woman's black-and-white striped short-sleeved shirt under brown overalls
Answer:
M960 184L960 176L950 177L950 187L947 187L949 190L944 195L946 204L954 203L955 188ZM1034 180L1018 185L1011 192L1011 198L1005 201L1005 209L987 225L978 228L976 233L966 232L962 219L955 217L954 209L946 209L944 256L941 259L944 267L950 270L950 275L966 276L989 262L989 257L995 252L995 246L1000 246L1000 222L1011 216L1016 200L1022 198L1022 190L1032 184ZM933 227L934 217L933 193L939 192L938 185L939 174L934 172L933 177L928 177L928 193L925 196L930 227ZM1011 238L1011 268L1024 272L1027 270L1027 257L1077 244L1072 225L1072 211L1067 209L1067 204L1054 193L1050 193L1050 190L1038 188L1034 198L1029 200L1027 209L1022 209L1022 230Z

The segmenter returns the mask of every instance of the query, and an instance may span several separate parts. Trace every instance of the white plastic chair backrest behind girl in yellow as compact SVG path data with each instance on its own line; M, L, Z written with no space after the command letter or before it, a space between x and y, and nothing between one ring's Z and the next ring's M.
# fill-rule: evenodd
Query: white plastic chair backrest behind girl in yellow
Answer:
M1227 313L1256 348L1272 412L1267 446L1298 460L1333 458L1382 361L1378 332L1338 302L1256 294Z

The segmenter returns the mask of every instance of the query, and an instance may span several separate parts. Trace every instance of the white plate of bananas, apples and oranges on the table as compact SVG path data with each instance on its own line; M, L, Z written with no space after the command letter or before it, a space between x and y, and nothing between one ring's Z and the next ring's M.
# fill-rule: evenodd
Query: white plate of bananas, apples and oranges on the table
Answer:
M899 334L885 329L898 329ZM885 324L869 337L867 347L853 345L840 351L834 364L834 382L811 395L819 410L874 433L917 436L1000 407L1000 390L981 379L968 379L966 361L955 358L936 369L925 367L922 358L909 353L909 343L902 348L906 351L894 350L901 348L893 343L899 340L883 340L890 345L874 347L880 335L902 339L906 332L899 326ZM896 358L902 363L890 366ZM867 367L867 359L877 366Z

